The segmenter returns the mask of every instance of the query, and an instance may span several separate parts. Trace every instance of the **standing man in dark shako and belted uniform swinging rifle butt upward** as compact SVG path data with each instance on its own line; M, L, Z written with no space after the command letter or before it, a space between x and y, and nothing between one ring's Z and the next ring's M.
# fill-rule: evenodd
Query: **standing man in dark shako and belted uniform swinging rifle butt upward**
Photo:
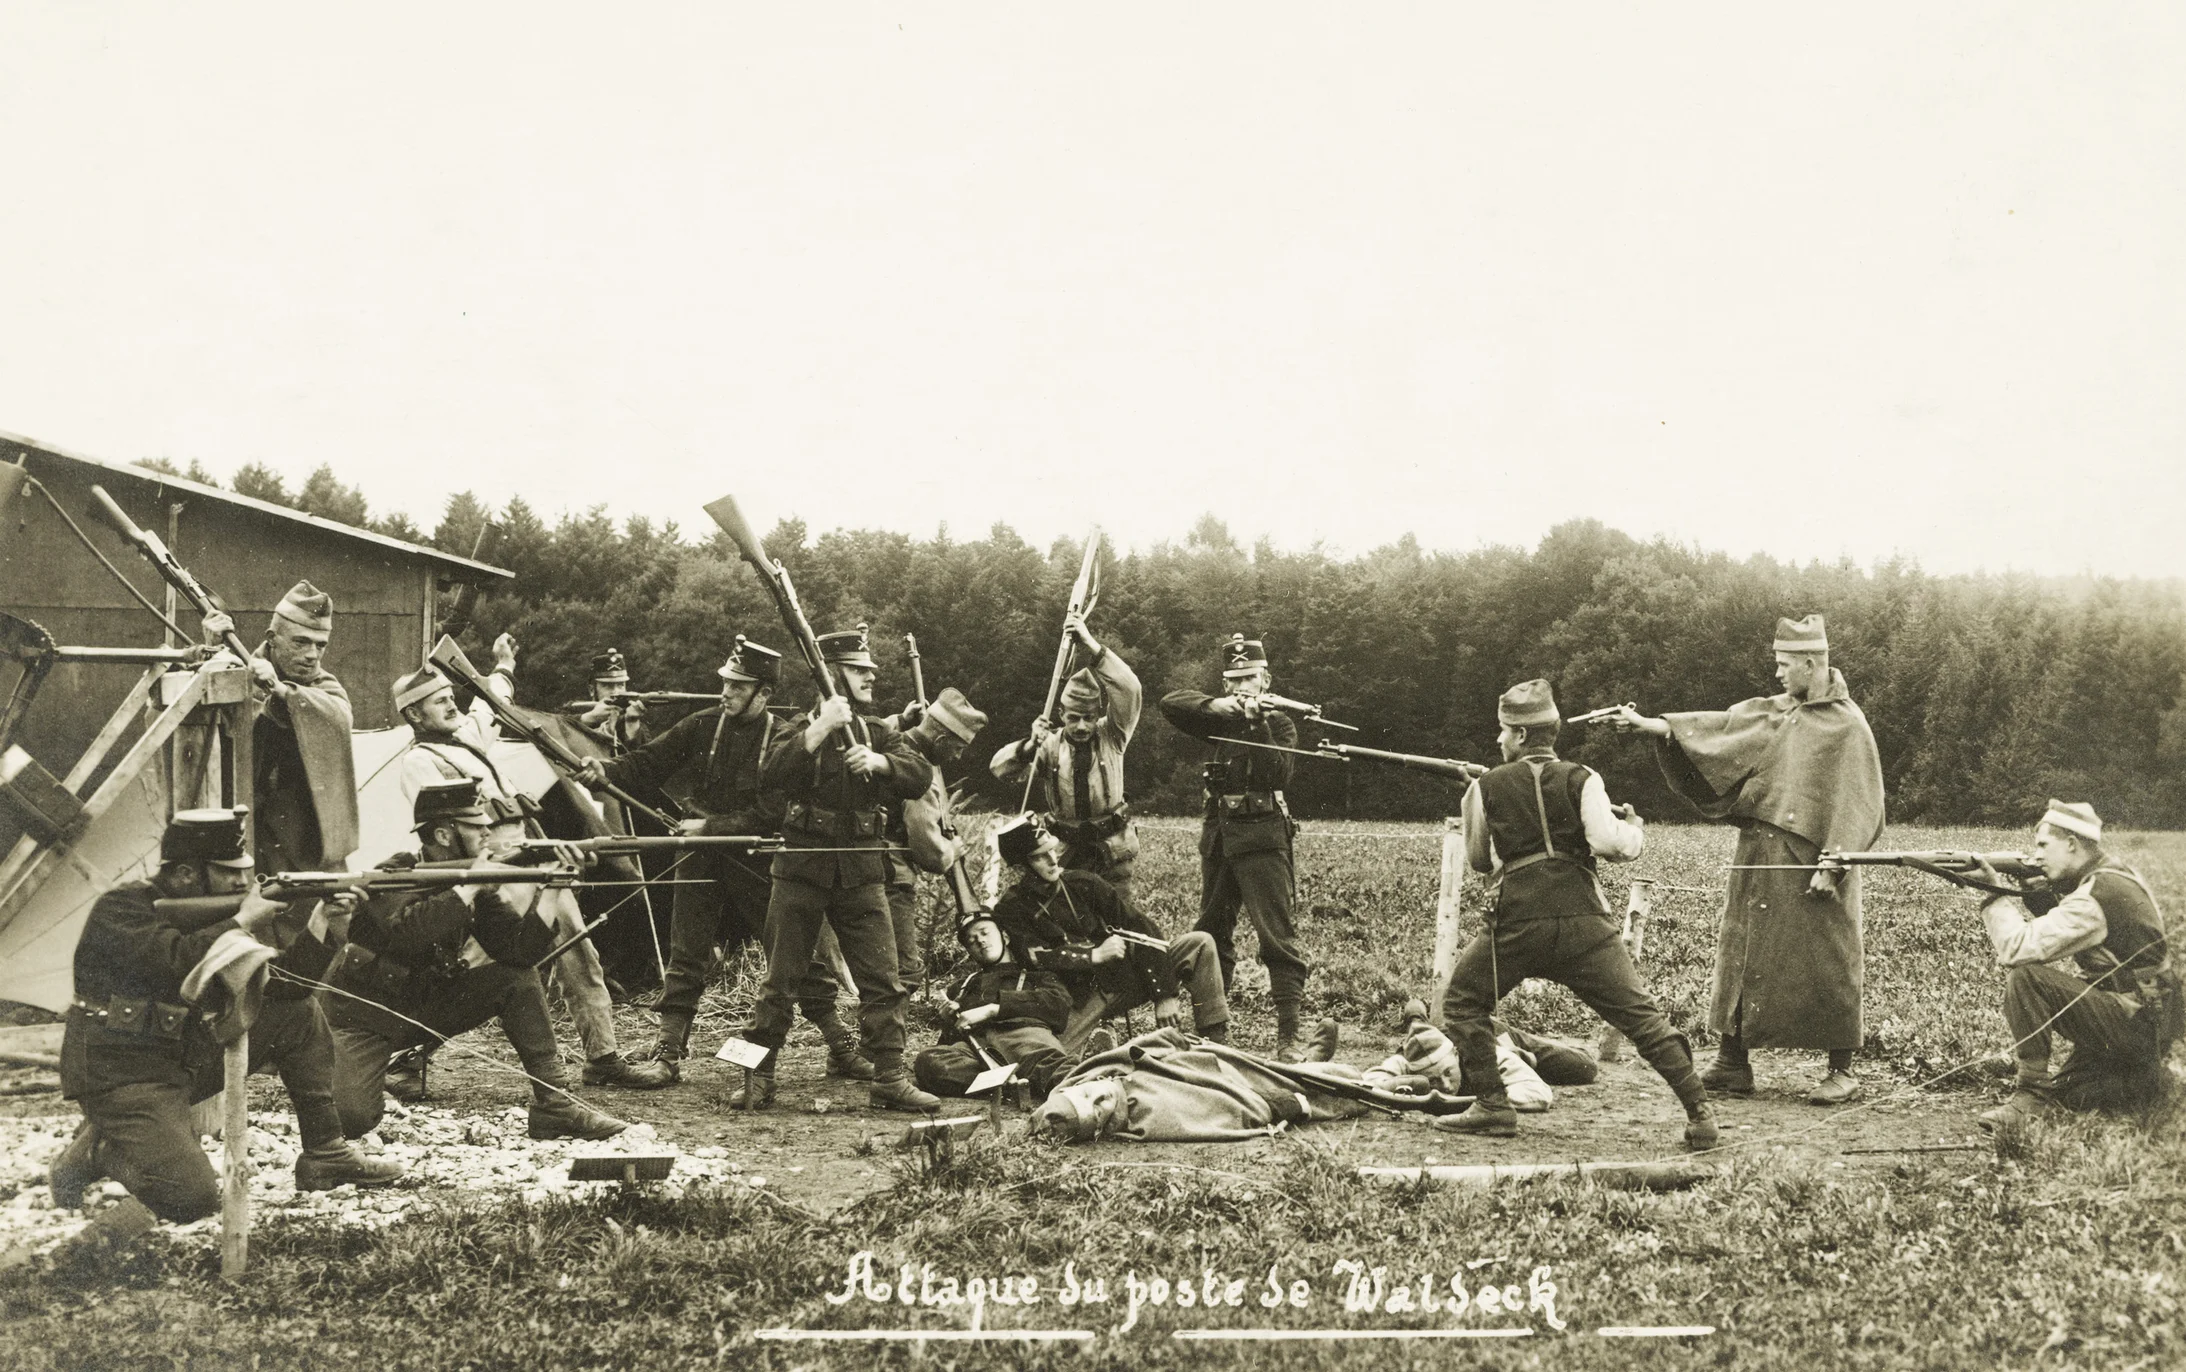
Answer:
M820 636L842 695L822 699L780 730L761 765L761 784L783 793L783 841L767 900L767 985L743 1038L767 1049L750 1073L748 1095L730 1103L756 1110L774 1101L774 1060L789 1033L798 992L811 970L820 929L833 926L857 981L859 1044L872 1062L870 1101L890 1110L933 1110L940 1101L912 1084L903 1064L903 981L888 913L888 797L925 793L933 769L872 708L877 664L863 629ZM804 848L820 852L800 852Z

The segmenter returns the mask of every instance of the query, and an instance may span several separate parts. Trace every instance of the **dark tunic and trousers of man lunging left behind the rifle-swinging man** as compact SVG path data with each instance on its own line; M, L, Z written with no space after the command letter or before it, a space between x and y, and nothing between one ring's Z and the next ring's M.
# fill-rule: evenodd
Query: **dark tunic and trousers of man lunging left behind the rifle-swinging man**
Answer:
M783 821L783 800L761 786L759 767L780 732L765 710L754 721L730 721L721 706L684 717L671 730L608 762L608 780L638 797L662 795L682 780L686 802L706 817L706 835L772 835ZM660 1014L697 1014L721 944L737 946L765 933L772 880L748 852L686 852L673 865L669 974Z

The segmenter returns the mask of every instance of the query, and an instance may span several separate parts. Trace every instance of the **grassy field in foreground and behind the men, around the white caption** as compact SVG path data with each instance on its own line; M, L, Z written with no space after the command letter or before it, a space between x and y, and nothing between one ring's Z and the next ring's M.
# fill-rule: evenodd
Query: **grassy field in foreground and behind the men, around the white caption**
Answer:
M1301 837L1301 909L1314 998L1375 1020L1417 994L1432 944L1436 843L1377 837L1390 826L1312 826ZM1893 830L1891 845L2018 848L2024 835ZM1705 1012L1723 830L1666 828L1635 865L1699 891L1664 894L1646 972L1688 1029ZM2120 835L2173 911L2186 907L2186 837ZM1196 902L1191 832L1148 832L1148 904L1170 926ZM1349 911L1349 913L1336 913ZM1471 931L1467 915L1467 931ZM2005 1046L1989 966L1965 898L1932 878L1884 872L1867 902L1871 1057L1913 1088ZM1266 1020L1264 992L1242 998ZM1591 1038L1561 992L1528 990L1528 1022ZM1261 1027L1264 1031L1264 1027ZM1943 1090L1994 1090L1965 1077ZM0 1350L20 1368L369 1365L369 1368L2169 1368L2186 1363L2186 1112L2072 1119L2018 1147L1906 1156L1845 1169L1738 1156L1683 1193L1537 1184L1493 1193L1368 1188L1312 1134L1250 1175L1207 1167L1093 1162L1056 1145L973 1145L929 1171L822 1217L748 1188L660 1202L477 1206L380 1232L271 1223L258 1269L216 1280L210 1256L157 1237L107 1263L0 1276ZM820 1344L759 1330L971 1326L966 1304L879 1304L846 1285L855 1254L877 1280L929 1267L936 1287L999 1291L1038 1278L1038 1304L982 1306L986 1328L1089 1330L1084 1341ZM1347 1311L1344 1274L1386 1269L1390 1287L1438 1291L1458 1276L1465 1311ZM1108 1300L1065 1306L1065 1269L1102 1278ZM1285 1300L1259 1304L1274 1267ZM1556 1287L1554 1328L1530 1300ZM1152 1278L1242 1282L1239 1306L1150 1302ZM1290 1282L1305 1282L1305 1304ZM1130 1320L1137 1285L1141 1309ZM1482 1311L1482 1285L1515 1287L1521 1313ZM1690 1339L1611 1339L1602 1326L1701 1324ZM1128 1328L1126 1328L1128 1326ZM1535 1333L1452 1346L1425 1341L1222 1344L1178 1330L1502 1328Z

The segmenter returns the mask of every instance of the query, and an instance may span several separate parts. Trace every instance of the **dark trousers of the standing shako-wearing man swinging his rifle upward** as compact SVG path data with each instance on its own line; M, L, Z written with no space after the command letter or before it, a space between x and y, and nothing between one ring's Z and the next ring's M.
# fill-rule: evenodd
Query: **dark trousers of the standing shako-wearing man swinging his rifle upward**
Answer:
M896 979L896 926L881 883L815 887L791 876L774 878L767 900L767 985L759 996L748 1040L780 1049L798 996L811 974L820 931L833 929L857 981L859 1046L881 1077L903 1073L903 981Z

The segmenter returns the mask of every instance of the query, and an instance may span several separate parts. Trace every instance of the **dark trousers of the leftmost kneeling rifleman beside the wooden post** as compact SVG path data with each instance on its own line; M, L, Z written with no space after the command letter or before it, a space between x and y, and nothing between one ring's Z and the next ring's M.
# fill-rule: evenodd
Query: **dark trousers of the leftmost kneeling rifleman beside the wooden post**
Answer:
M341 1140L334 1112L334 1040L317 1001L267 1001L251 1025L251 1071L280 1073L304 1147ZM98 1129L96 1169L129 1188L160 1219L188 1223L221 1208L221 1182L197 1145L190 1105L221 1092L221 1057L197 1068L188 1088L129 1081L79 1103Z

